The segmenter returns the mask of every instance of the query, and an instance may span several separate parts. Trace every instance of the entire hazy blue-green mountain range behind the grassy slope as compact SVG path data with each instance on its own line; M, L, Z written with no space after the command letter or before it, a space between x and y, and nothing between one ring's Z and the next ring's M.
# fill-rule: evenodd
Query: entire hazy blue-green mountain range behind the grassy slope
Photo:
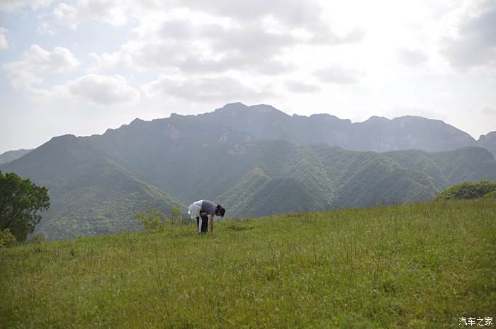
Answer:
M37 231L65 238L135 229L145 204L169 214L210 199L249 217L429 200L455 183L496 180L495 145L495 132L475 141L422 117L351 123L232 103L55 137L0 170L49 187Z

